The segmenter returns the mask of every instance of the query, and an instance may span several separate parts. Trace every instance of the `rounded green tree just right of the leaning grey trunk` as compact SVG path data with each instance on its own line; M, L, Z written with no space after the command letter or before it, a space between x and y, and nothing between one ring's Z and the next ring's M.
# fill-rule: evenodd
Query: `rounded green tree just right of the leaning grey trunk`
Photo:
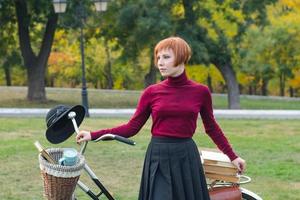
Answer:
M275 76L272 49L275 40L265 29L251 27L245 34L239 48L240 70L251 76L249 94L257 94L256 87L261 86L261 94L268 94L268 83Z

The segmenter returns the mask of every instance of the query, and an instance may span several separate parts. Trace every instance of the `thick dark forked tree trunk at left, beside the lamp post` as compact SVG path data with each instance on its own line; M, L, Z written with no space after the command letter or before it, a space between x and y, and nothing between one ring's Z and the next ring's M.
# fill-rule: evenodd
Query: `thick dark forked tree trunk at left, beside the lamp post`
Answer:
M53 12L51 15L49 15L41 44L41 49L39 51L39 54L36 56L32 50L30 43L30 16L27 12L27 2L16 0L15 7L18 20L20 49L24 60L24 65L27 69L27 99L29 101L45 101L45 72L58 16Z

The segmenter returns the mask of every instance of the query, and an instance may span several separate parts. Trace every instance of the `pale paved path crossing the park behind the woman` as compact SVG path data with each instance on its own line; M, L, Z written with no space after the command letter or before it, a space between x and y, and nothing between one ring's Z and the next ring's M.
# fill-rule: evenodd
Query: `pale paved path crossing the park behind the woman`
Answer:
M4 117L45 117L49 109L0 108ZM91 117L130 117L135 109L90 109ZM214 110L216 118L300 119L300 110Z

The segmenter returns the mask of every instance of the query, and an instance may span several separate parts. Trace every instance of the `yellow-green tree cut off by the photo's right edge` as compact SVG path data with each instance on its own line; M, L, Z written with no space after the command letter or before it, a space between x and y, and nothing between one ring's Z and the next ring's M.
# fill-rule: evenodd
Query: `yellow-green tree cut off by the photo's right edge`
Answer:
M300 4L296 1L281 0L269 14L271 36L276 41L272 54L279 77L280 95L285 96L288 79L294 78L293 71L299 67ZM290 88L291 90L291 88ZM290 92L292 93L292 92Z

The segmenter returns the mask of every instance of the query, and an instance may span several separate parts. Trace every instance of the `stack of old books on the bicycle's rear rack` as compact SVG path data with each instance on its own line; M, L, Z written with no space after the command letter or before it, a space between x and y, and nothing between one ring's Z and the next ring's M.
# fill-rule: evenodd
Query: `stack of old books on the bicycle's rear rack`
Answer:
M225 154L216 150L201 150L200 152L206 178L232 183L239 182L238 169Z

